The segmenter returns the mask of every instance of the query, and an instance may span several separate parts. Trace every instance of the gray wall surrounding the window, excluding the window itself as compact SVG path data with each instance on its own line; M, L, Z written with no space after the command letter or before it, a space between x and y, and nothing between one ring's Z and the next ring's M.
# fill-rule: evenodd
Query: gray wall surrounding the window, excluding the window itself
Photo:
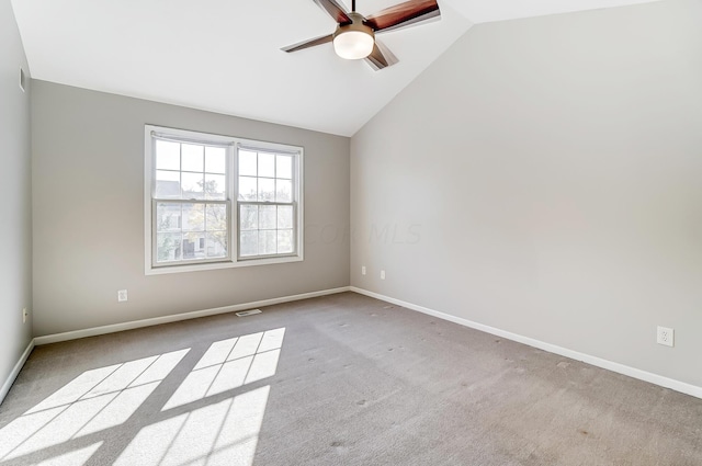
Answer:
M349 138L33 86L35 336L349 285ZM303 146L304 262L145 276L146 123Z

